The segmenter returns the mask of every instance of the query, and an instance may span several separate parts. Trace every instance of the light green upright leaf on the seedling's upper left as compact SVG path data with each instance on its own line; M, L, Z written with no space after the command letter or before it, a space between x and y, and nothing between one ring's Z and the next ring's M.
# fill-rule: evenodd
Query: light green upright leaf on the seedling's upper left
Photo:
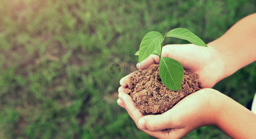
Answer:
M163 40L163 34L160 32L151 31L147 33L141 41L139 49L139 63L149 57L149 55L151 55L154 50L157 49L159 45L161 45Z

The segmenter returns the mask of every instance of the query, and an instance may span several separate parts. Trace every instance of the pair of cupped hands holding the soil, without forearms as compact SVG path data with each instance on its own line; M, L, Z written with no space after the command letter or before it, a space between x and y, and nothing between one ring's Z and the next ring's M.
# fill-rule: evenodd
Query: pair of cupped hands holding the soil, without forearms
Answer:
M199 74L203 88L211 88L225 76L225 64L221 54L213 47L200 47L194 44L172 44L163 47L162 57L178 60L184 69ZM150 55L139 63L159 64L157 55ZM143 70L143 69L142 69ZM192 130L206 125L215 124L215 108L212 102L217 101L218 91L202 89L183 98L173 108L160 115L143 116L134 105L132 98L125 93L129 75L120 80L117 100L118 105L127 110L137 127L157 138L181 138ZM213 105L214 106L214 105ZM164 129L170 129L167 132ZM163 131L164 130L164 131Z

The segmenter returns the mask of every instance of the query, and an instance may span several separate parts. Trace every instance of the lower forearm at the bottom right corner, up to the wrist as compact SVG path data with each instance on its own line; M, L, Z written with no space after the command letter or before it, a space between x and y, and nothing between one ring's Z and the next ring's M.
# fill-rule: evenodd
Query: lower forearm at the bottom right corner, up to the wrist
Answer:
M226 95L221 99L217 127L231 138L256 138L256 114Z

